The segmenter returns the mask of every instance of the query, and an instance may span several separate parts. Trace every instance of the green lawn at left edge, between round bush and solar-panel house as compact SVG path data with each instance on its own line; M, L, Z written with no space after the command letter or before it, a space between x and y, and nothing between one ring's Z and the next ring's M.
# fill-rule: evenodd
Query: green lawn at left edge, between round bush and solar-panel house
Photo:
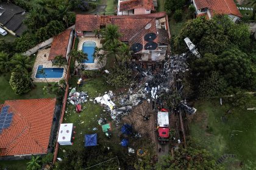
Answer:
M54 95L44 95L43 87L46 83L35 83L35 88L24 95L15 95L9 85L10 73L0 76L0 103L5 100L30 99L30 98L53 98Z

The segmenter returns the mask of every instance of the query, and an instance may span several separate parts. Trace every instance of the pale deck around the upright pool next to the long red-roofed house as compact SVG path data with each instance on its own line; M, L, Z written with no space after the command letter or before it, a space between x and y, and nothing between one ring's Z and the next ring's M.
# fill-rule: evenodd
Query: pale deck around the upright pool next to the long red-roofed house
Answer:
M96 46L101 48L101 39L95 37L80 37L77 50L82 50L83 44L85 41L94 41L96 42ZM77 64L77 63L76 63ZM85 69L101 69L101 66L98 64L97 60L94 60L94 63L86 63Z

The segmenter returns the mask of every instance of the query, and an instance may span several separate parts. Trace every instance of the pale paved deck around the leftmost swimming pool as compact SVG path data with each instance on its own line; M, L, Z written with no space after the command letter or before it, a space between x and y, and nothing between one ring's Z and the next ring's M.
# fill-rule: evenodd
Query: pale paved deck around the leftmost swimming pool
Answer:
M37 58L35 59L35 64L32 70L32 75L31 78L34 80L34 83L46 83L46 80L44 78L35 78L35 75L37 74L37 67L38 66L43 66L44 68L63 68L63 67L57 67L57 66L52 66L52 62L48 61L48 56L49 56L49 52L50 49L42 49L42 50L38 50L37 53ZM46 56L44 56L44 54ZM62 80L63 78L66 77L66 73L65 73L65 69L64 69L64 73L62 78L46 78L48 82L58 82L60 80Z

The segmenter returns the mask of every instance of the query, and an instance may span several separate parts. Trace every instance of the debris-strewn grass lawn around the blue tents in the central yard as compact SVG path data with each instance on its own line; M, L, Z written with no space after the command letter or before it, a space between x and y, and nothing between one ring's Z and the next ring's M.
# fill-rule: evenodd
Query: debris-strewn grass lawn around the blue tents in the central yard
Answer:
M72 77L69 79L69 83L71 83L70 87L74 87L77 83L78 77ZM73 86L72 86L73 84ZM77 87L78 91L88 92L88 96L90 99L94 100L95 97L98 97L99 94L104 95L104 92L108 90L114 90L113 87L105 84L105 80L102 77L93 78L91 80L85 81L84 86ZM114 101L115 102L115 101ZM101 147L109 147L115 153L124 153L127 154L127 148L123 148L119 143L121 142L120 137L120 128L121 126L116 126L115 122L112 121L110 115L104 111L104 107L99 104L94 104L93 101L87 101L87 103L82 104L82 112L77 114L75 112L76 107L72 104L68 104L64 116L63 123L74 123L76 126L76 134L74 135L74 144L72 146L60 146L58 157L62 157L63 150L81 150L84 148L84 136L85 134L98 134L98 144ZM102 132L101 126L98 124L99 118L106 118L109 123L112 125L112 138L108 139L105 137ZM93 128L97 129L93 131ZM129 138L130 147L134 149L146 148L149 146L148 140L136 140L133 138Z

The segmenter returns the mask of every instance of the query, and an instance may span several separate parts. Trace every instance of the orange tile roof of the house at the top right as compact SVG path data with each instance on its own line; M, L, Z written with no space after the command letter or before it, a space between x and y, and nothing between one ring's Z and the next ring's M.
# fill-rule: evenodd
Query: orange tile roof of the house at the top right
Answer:
M208 8L211 15L214 14L232 14L242 16L233 0L194 0L197 9Z

